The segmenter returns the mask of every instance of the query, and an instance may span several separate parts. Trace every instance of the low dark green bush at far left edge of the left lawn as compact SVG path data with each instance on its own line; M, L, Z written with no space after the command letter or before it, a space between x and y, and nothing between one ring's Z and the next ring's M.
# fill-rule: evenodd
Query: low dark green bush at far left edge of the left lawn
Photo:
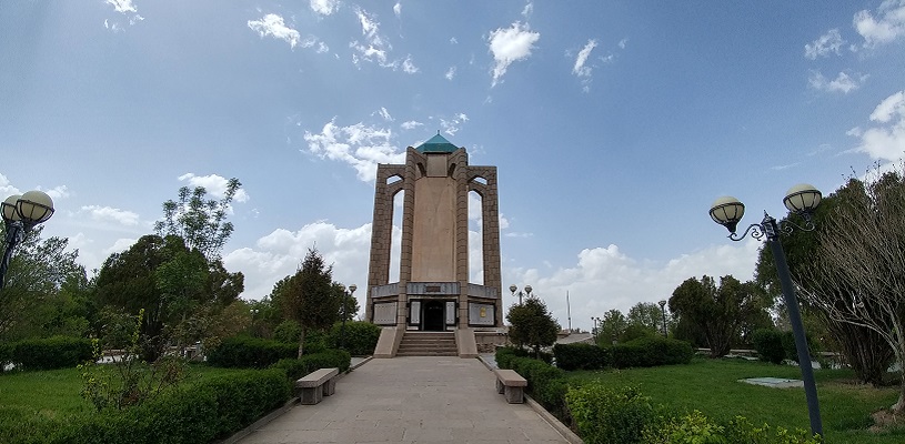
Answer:
M92 353L91 340L53 336L17 342L10 361L22 370L68 369L91 360Z

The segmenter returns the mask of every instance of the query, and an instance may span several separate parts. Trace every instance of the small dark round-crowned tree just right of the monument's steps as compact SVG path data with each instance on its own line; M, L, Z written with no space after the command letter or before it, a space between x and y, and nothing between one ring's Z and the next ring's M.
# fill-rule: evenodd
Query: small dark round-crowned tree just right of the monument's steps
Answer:
M553 345L560 333L560 324L546 310L540 297L530 295L522 304L513 304L506 314L509 340L521 346L534 349L534 356L541 356L541 347Z

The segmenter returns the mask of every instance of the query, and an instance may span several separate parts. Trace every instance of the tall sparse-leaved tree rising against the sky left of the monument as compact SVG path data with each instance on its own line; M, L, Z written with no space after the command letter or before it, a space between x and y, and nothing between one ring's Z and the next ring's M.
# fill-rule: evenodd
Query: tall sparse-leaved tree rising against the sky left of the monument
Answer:
M239 179L227 183L227 191L219 201L205 199L204 186L179 189L179 200L163 202L163 220L154 223L161 238L178 235L189 249L198 249L208 260L219 259L223 244L232 235L232 222L227 222L230 203L242 186Z

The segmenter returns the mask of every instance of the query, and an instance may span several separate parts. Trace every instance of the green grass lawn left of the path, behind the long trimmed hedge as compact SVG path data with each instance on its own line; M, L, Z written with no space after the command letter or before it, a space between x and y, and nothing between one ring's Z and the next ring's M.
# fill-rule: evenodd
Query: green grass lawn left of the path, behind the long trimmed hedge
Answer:
M237 371L190 365L183 384ZM0 437L42 422L93 414L94 406L81 397L81 390L78 369L0 373Z

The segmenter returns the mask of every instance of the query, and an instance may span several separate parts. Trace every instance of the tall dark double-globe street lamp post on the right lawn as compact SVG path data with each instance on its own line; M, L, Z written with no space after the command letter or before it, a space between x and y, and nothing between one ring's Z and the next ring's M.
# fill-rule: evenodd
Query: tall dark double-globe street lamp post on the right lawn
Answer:
M792 332L795 337L795 349L798 352L798 366L802 370L802 381L804 382L804 393L807 397L807 413L811 417L811 433L823 436L823 424L821 422L821 410L817 403L817 386L814 383L814 369L811 365L811 355L807 351L807 340L804 334L804 324L798 311L798 300L795 296L795 287L788 273L788 264L785 260L783 245L780 242L780 233L791 233L794 229L813 231L815 229L812 215L814 209L821 203L823 195L812 185L806 183L795 185L788 190L783 203L788 211L798 214L805 221L804 226L798 226L786 220L777 223L766 211L761 223L751 224L741 236L735 234L735 228L745 214L745 205L733 196L718 198L711 206L711 219L725 226L730 231L728 238L733 241L741 241L748 233L756 240L766 238L766 243L773 252L776 262L776 273L780 276L780 284L783 289L783 297L788 309L788 320L792 323Z

